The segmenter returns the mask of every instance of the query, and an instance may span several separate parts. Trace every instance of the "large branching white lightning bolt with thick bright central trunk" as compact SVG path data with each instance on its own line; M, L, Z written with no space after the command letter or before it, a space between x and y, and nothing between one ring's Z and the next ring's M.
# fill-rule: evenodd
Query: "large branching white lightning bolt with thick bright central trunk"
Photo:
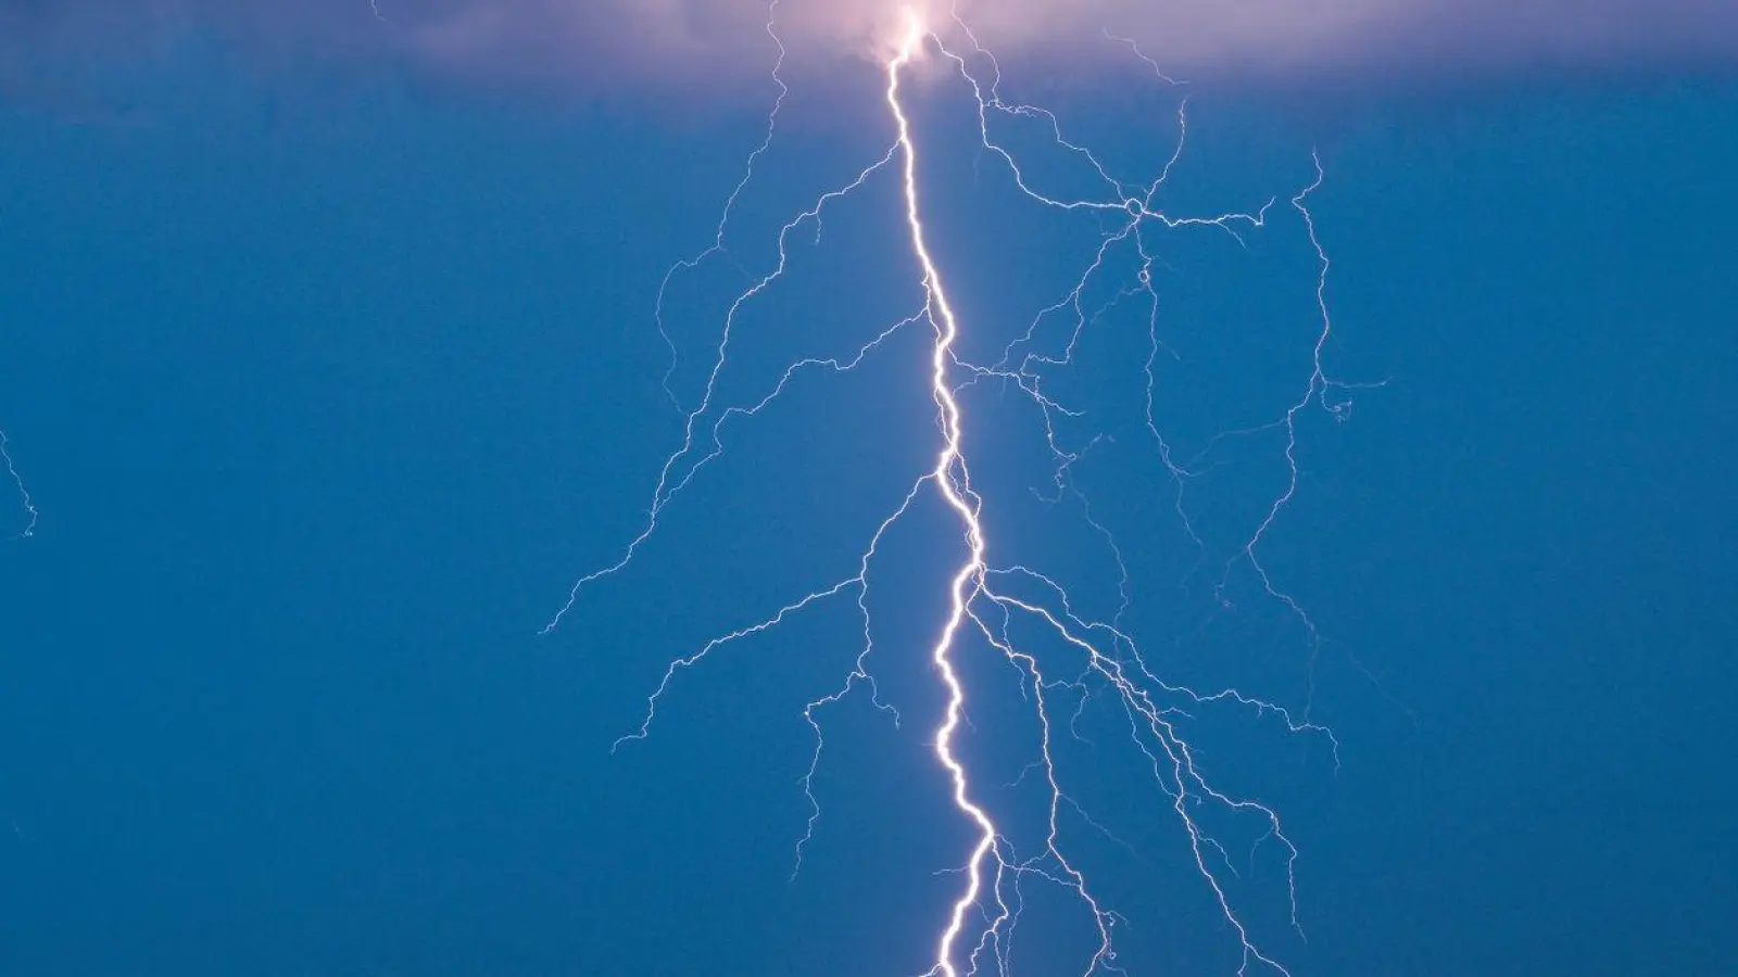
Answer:
M1258 433L1281 431L1284 436L1283 457L1290 476L1284 488L1265 506L1260 523L1248 539L1224 563L1218 593L1229 584L1229 577L1239 562L1253 567L1265 593L1281 601L1297 615L1305 628L1312 654L1319 636L1316 624L1304 612L1304 607L1288 593L1279 589L1258 558L1258 548L1276 520L1291 504L1298 488L1298 415L1312 403L1321 405L1335 419L1345 419L1350 410L1349 393L1361 384L1347 384L1330 377L1324 367L1324 351L1333 334L1333 322L1328 315L1328 254L1316 233L1316 221L1309 210L1309 196L1321 186L1323 169L1316 162L1314 181L1290 198L1291 209L1302 217L1310 245L1317 259L1316 302L1319 308L1319 330L1312 346L1310 376L1304 391L1290 402L1286 410L1264 424L1229 429L1208 442L1194 459L1178 459L1177 452L1161 433L1154 409L1156 362L1163 351L1159 341L1159 296L1152 283L1152 266L1159 261L1149 235L1159 231L1208 229L1225 233L1239 245L1244 235L1264 229L1269 212L1277 198L1267 200L1260 207L1246 212L1229 212L1217 216L1170 216L1158 207L1158 196L1171 176L1177 160L1184 153L1187 141L1187 99L1182 99L1177 111L1178 139L1171 156L1151 183L1126 183L1114 177L1105 165L1083 144L1071 141L1062 122L1048 110L1006 101L1001 94L1001 68L994 56L978 43L970 26L958 16L949 16L947 31L965 38L959 50L949 47L942 31L932 28L914 9L904 9L902 31L897 50L886 57L885 68L885 104L893 125L893 136L885 144L879 156L872 158L841 186L817 196L813 203L791 217L777 233L777 259L766 273L753 278L749 287L735 296L723 316L718 344L713 348L711 369L699 402L685 409L681 398L671 388L674 372L676 344L664 327L666 292L674 276L697 269L716 256L726 254L726 229L739 196L754 179L754 163L768 150L775 137L779 113L789 89L780 76L786 61L786 47L777 31L779 0L768 9L766 33L777 47L779 59L772 78L779 96L766 118L766 134L747 158L740 181L732 189L723 214L718 221L713 243L669 268L657 292L655 318L659 334L671 349L671 369L664 376L664 391L671 403L683 412L683 435L680 447L666 457L647 520L641 530L627 542L619 558L589 574L579 577L568 591L567 601L544 626L544 633L553 631L567 614L574 610L582 593L627 568L641 546L657 532L660 516L683 490L693 483L699 473L725 452L723 431L728 424L751 419L770 405L789 388L791 381L808 372L845 374L855 370L879 351L897 334L918 325L928 325L933 336L930 344L930 398L937 412L937 429L940 445L935 464L923 473L914 473L900 504L883 518L869 544L860 551L855 568L833 582L817 588L799 598L779 607L760 621L735 631L720 635L695 652L669 662L662 680L647 697L647 708L638 728L622 735L612 746L620 749L634 741L647 739L657 720L659 704L671 688L676 676L697 668L707 657L737 641L765 635L793 615L803 614L815 605L843 596L853 596L862 617L862 645L852 669L841 685L831 694L810 701L803 708L803 720L813 732L813 751L808 768L801 779L803 794L808 801L810 815L801 840L796 843L796 873L801 871L803 854L815 838L822 808L815 798L813 782L826 749L824 709L850 697L859 687L869 688L871 702L888 713L895 725L900 721L899 711L881 699L871 671L874 640L871 633L867 593L871 568L885 534L897 525L926 492L940 495L947 511L958 522L965 555L952 568L947 584L947 617L940 622L930 647L930 664L939 676L945 694L945 704L939 723L932 728L933 756L951 786L952 807L959 821L970 829L973 838L963 861L949 869L963 878L947 913L940 921L928 951L925 977L961 977L992 972L1008 975L1013 972L1015 934L1025 906L1027 885L1051 885L1069 894L1090 916L1095 934L1091 953L1081 961L1079 974L1095 977L1105 974L1126 974L1118 963L1116 934L1126 923L1124 916L1114 909L1098 892L1088 871L1083 867L1074 834L1083 829L1095 831L1121 843L1107 827L1095 821L1069 794L1067 770L1057 761L1053 751L1055 739L1069 735L1079 739L1078 720L1093 701L1105 701L1112 714L1119 716L1119 725L1126 730L1128 744L1142 758L1144 767L1152 774L1152 781L1170 800L1170 810L1192 854L1196 874L1208 897L1217 906L1225 930L1236 940L1239 958L1237 974L1265 970L1290 977L1290 970L1274 953L1269 953L1269 937L1257 934L1253 923L1246 923L1237 899L1227 885L1227 878L1237 876L1227 841L1211 827L1208 817L1218 822L1251 824L1253 840L1248 840L1250 857L1260 845L1274 845L1283 854L1284 885L1290 906L1290 927L1302 937L1304 928L1298 920L1297 859L1298 848L1283 829L1279 815L1267 805L1225 789L1220 789L1206 775L1201 763L1201 751L1191 742L1187 725L1203 709L1236 709L1265 721L1276 721L1288 734L1321 737L1331 746L1335 765L1338 767L1338 741L1333 732L1309 720L1309 713L1295 714L1288 708L1246 695L1236 688L1199 692L1185 685L1170 683L1159 678L1149 666L1147 655L1140 650L1133 635L1123 626L1123 615L1130 607L1130 574L1123 560L1123 551L1111 530L1100 523L1085 492L1072 480L1072 466L1091 450L1098 440L1085 447L1067 447L1058 435L1058 419L1079 417L1079 410L1051 396L1046 389L1046 376L1058 367L1069 367L1076 344L1097 313L1086 308L1085 294L1090 283L1105 273L1107 259L1112 252L1131 250L1137 263L1137 283L1123 289L1116 301L1135 299L1147 306L1147 341L1149 355L1142 363L1145 381L1145 428L1156 452L1168 471L1175 488L1175 511L1194 546L1204 555L1206 546L1197 535L1187 506L1187 487L1201 478L1210 468L1210 455L1224 440L1246 438ZM1131 40L1111 35L1142 61L1152 73L1168 85L1178 85L1159 71L1159 66L1147 57ZM905 108L905 90L902 82L912 68L930 56L939 54L958 78L963 78L973 92L977 108L978 137L984 150L999 160L1013 177L1017 189L1029 200L1064 210L1090 212L1116 226L1102 233L1102 242L1093 261L1081 273L1076 285L1055 304L1041 309L1027 325L1024 334L1015 337L992 363L973 363L961 356L958 341L961 339L961 320L949 301L947 287L939 263L930 249L928 233L923 221L923 198L918 177L919 141ZM1022 172L1018 156L994 137L992 120L1020 118L1045 125L1060 150L1085 160L1102 183L1102 196L1076 198L1048 193L1039 181ZM791 236L813 226L819 235L824 214L838 200L853 195L869 181L879 177L883 170L893 170L902 191L904 224L911 257L918 266L918 285L923 302L911 315L886 325L846 356L808 356L791 362L779 379L760 398L744 403L725 405L720 402L720 377L730 360L732 339L739 313L777 287L789 268L787 243ZM1100 309L1102 311L1102 309ZM1045 323L1051 316L1067 316L1072 329L1060 351L1041 351L1039 337ZM991 560L991 539L984 523L984 495L973 487L972 466L966 452L966 409L963 395L978 384L999 384L1018 391L1039 410L1045 422L1045 436L1055 461L1053 483L1055 495L1074 497L1081 504L1085 522L1105 541L1119 572L1118 612L1109 621L1097 621L1076 610L1069 591L1050 574L1024 563L994 563ZM1363 384L1378 386L1378 384ZM1229 601L1222 603L1229 607ZM1020 680L1020 694L1031 706L1031 718L1039 734L1036 758L1025 765L1020 782L1029 775L1038 775L1045 793L1045 831L1043 838L1027 843L1015 840L1015 829L998 821L996 805L987 801L992 796L985 784L973 781L973 772L963 760L958 737L966 723L968 683L961 671L961 654L966 650L966 636L975 635L984 647L999 655L1015 669ZM1064 714L1067 713L1067 714ZM1017 782L1018 784L1018 782Z

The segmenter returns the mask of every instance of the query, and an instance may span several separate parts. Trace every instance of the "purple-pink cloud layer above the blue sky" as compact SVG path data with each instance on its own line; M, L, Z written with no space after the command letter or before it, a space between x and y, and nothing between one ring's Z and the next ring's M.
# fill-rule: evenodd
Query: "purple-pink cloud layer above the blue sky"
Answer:
M949 23L947 0L930 21ZM876 56L902 0L780 0L796 71ZM1363 70L1488 75L1738 66L1733 0L959 0L985 45L1079 57L1111 30L1182 75L1307 80ZM398 59L494 83L725 87L773 56L758 0L0 0L0 85L40 59L149 56L207 31L254 50ZM1098 45L1097 49L1088 45Z

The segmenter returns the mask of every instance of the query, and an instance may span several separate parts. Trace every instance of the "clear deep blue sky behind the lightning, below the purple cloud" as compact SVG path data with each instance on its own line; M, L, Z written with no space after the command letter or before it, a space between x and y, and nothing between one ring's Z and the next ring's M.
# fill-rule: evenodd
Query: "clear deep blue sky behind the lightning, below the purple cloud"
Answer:
M1057 97L1131 167L1164 146L1170 92ZM1312 668L1246 575L1232 614L1203 610L1211 581L1138 452L1081 475L1124 520L1131 622L1175 675L1309 702L1340 739L1335 770L1310 742L1206 720L1302 850L1310 939L1276 937L1293 972L1715 974L1738 855L1738 90L1557 75L1349 101L1199 92L1173 200L1283 203L1312 146L1328 174L1310 203L1333 362L1387 382L1347 422L1305 415L1300 495L1262 548L1321 652ZM652 301L711 238L761 118L355 70L261 82L198 47L108 78L99 103L0 115L0 426L42 511L0 548L0 968L921 970L951 894L933 873L968 843L926 721L839 709L826 814L787 881L801 706L855 654L848 605L707 662L647 742L608 751L671 657L845 567L897 504L933 450L921 342L732 428L634 572L537 636L638 530L680 436ZM1090 229L1001 205L968 108L939 87L919 110L935 233L966 322L1022 322ZM765 263L766 231L879 139L780 143L744 198L740 261ZM747 320L732 382L909 304L890 205L872 184L829 216L826 247ZM1312 264L1281 217L1248 252L1164 238L1180 365L1161 407L1182 442L1304 379L1286 342ZM735 283L709 266L673 294L678 389ZM1131 348L1100 336L1098 372L1058 382L1133 443L1116 407ZM1024 501L1043 478L1029 417L985 403L998 539L1114 589L1090 534ZM1272 492L1270 445L1251 450L1192 495L1217 546ZM949 532L914 513L876 584L907 716L939 704L919 659ZM1140 833L1138 857L1100 855L1130 968L1234 970L1163 798L1097 763L1095 814ZM1270 923L1276 897L1253 885L1251 916ZM1072 946L1055 927L1031 972Z

